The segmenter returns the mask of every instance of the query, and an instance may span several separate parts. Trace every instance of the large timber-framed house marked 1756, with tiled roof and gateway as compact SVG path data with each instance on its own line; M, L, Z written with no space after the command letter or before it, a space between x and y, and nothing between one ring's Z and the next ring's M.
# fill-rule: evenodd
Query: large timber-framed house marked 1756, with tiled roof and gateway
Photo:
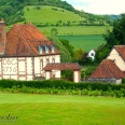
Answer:
M0 20L0 79L60 79L60 70L72 69L80 82L78 64L60 64L60 52L31 23L15 24L6 33Z

